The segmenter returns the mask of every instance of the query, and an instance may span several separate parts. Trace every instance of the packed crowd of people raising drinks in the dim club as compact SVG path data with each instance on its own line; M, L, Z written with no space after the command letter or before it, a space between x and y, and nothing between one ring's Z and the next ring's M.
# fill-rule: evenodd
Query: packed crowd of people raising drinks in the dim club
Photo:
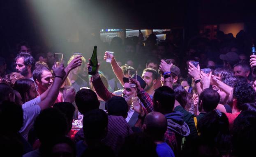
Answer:
M53 52L35 53L21 42L14 60L0 58L0 154L253 155L252 39L244 31L236 37L219 31L216 39L201 34L185 46L175 33L160 42L155 34L124 42L115 37L105 47L114 52L111 63L101 48L94 75L88 75L88 56L72 55L58 65ZM74 132L77 119L83 127Z

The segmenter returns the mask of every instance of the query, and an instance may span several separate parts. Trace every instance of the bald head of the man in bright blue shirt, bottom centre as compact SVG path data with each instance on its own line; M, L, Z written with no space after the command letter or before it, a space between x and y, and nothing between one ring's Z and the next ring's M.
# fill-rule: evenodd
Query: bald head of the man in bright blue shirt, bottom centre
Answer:
M167 121L164 114L150 112L144 120L144 132L155 140L162 140L167 130Z

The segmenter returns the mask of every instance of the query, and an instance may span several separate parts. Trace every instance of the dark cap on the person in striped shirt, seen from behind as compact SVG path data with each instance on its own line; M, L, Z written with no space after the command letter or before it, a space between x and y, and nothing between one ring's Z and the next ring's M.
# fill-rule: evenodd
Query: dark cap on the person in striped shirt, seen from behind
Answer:
M108 99L105 103L106 109L108 110L108 115L114 116L125 116L128 112L128 104L125 98L121 96L113 96Z

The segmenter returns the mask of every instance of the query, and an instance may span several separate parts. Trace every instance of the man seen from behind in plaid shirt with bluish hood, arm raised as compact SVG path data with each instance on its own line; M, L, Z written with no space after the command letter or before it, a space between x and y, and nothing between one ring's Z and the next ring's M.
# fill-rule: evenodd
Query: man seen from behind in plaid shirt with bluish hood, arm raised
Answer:
M157 111L165 115L168 127L164 135L164 141L171 146L175 154L178 153L178 148L181 146L182 138L190 133L187 123L183 121L181 112L173 111L175 103L175 93L167 86L159 87L155 90L153 101L150 96L140 87L138 81L132 79L136 84L138 97L148 112Z

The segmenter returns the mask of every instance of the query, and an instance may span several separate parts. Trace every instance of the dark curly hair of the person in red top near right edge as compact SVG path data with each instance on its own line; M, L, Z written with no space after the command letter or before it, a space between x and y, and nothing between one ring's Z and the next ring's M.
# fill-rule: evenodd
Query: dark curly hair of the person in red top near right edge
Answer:
M244 103L255 103L256 92L247 82L238 81L234 85L233 98L237 101L237 108L242 110Z

